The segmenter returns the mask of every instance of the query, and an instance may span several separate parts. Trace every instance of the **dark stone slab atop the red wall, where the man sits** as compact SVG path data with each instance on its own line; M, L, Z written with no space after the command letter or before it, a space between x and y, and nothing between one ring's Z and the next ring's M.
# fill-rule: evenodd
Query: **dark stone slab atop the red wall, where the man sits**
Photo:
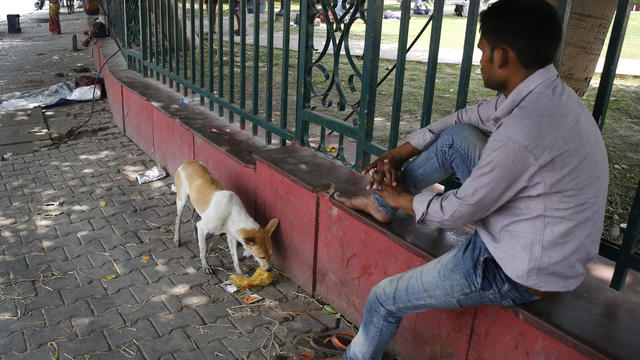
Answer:
M259 163L264 163L312 192L328 192L332 187L345 195L361 194L366 184L366 179L355 171L299 146L265 151L256 157ZM391 225L383 225L369 215L347 209L333 199L331 201L345 213L383 233L390 243L401 246L425 261L442 255L468 236L464 230L445 231L419 226L412 216L403 212L393 219ZM607 260L599 258L596 263L607 265ZM618 292L607 285L608 280L589 275L574 291L552 294L520 306L494 308L515 315L522 322L587 358L638 359L639 292L633 288ZM326 300L331 302L332 299ZM349 309L340 310L349 313ZM505 334L505 338L511 335ZM469 354L472 355L480 345L474 345L473 341L470 343Z

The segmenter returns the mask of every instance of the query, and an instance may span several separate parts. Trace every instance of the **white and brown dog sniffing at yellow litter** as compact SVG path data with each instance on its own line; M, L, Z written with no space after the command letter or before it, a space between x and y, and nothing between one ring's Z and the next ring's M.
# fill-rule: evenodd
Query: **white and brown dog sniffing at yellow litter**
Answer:
M256 258L260 267L267 271L271 270L271 233L278 226L278 219L271 219L266 227L260 227L247 214L238 195L224 190L220 182L214 179L207 168L197 160L190 160L180 165L175 175L175 187L178 214L173 241L176 246L180 246L182 210L190 199L201 218L195 224L194 232L197 228L200 260L204 272L208 274L212 272L206 258L208 233L227 235L233 266L238 274L242 274L238 262L238 243L241 243Z

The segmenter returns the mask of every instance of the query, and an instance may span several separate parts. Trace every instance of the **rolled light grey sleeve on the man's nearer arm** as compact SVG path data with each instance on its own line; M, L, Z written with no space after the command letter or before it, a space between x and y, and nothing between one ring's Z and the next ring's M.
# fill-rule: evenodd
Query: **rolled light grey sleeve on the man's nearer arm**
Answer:
M494 137L462 187L444 194L425 191L414 197L418 223L443 228L472 224L499 209L526 186L527 178L535 172L531 154L518 144Z

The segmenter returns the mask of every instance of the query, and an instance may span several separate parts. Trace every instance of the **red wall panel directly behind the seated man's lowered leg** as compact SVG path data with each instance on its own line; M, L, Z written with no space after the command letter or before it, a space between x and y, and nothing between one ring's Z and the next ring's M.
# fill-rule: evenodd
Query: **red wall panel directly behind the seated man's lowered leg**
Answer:
M348 319L362 321L371 288L381 280L425 264L384 234L320 196L316 295ZM467 354L473 308L407 316L392 349L402 359L461 359Z

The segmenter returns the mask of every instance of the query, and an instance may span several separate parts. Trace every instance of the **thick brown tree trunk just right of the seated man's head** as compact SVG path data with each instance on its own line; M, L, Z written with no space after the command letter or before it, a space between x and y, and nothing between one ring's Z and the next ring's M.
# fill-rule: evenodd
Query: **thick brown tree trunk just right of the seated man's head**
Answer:
M558 0L549 0L557 5ZM617 0L573 0L558 73L582 97L589 87Z

